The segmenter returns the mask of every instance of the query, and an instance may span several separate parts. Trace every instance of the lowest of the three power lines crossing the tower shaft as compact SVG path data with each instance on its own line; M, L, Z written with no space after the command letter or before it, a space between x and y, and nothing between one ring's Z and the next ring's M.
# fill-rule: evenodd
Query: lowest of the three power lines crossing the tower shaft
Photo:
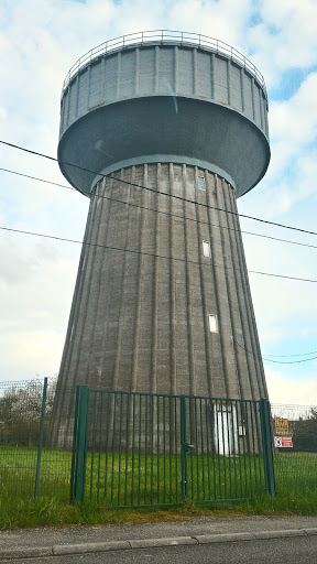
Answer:
M210 265L212 265L212 267L216 267L216 268L223 268L223 269L241 271L241 269L239 269L239 268L228 267L227 264L210 264L210 262L200 262L200 261L195 261L195 260L182 259L179 257L166 257L164 254L155 254L153 252L136 251L136 250L133 250L133 249L122 249L121 247L110 247L109 245L99 245L99 243L88 242L88 241L78 241L76 239L66 239L64 237L37 234L37 232L34 232L34 231L25 231L25 230L22 230L22 229L13 229L11 227L2 227L2 226L0 226L0 229L3 230L3 231L12 231L12 232L15 232L15 234L32 235L34 237L44 237L46 239L55 239L57 241L74 242L74 243L85 245L85 246L89 246L89 247L100 247L100 248L109 249L109 250L123 251L123 252L132 252L134 254L144 254L146 257L155 257L157 259L174 260L174 261L186 262L186 263L190 263L190 264L200 264L201 267L210 267ZM252 274L262 274L264 276L283 278L283 279L286 279L286 280L297 280L297 281L300 281L300 282L314 282L314 283L317 282L317 280L314 280L314 279L288 276L288 275L285 275L285 274L274 274L274 273L270 273L270 272L260 272L258 270L248 270L248 272L251 272Z

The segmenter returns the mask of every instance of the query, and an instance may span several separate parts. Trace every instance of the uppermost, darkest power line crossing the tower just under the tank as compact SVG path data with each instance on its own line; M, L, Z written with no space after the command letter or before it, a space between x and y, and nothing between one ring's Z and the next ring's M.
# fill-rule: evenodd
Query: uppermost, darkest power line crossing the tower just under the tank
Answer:
M231 212L229 209L222 209L220 207L210 206L209 204L203 204L201 202L195 202L193 199L183 198L182 196L177 196L177 195L174 195L174 194L168 194L167 192L161 192L161 191L157 191L155 188L150 188L149 186L143 186L142 184L135 184L133 182L124 181L123 178L117 178L116 176L112 176L112 174L102 174L102 173L97 172L97 171L91 171L90 169L86 169L85 166L80 166L78 164L68 163L67 161L62 161L61 159L58 160L58 159L56 159L54 156L50 156L47 154L40 153L37 151L31 151L31 149L26 149L24 147L17 145L14 143L9 143L8 141L0 140L0 143L2 143L4 145L8 145L8 147L11 147L13 149L19 149L20 151L24 151L24 152L30 153L30 154L34 154L36 156L42 156L43 159L48 159L50 161L59 162L59 163L65 164L67 166L73 166L74 169L78 169L78 170L84 171L84 172L89 172L90 174L95 174L95 175L101 176L103 178L111 178L113 181L117 181L117 182L120 182L120 183L123 183L123 184L128 184L129 186L134 186L136 188L146 189L149 192L153 192L153 193L160 194L162 196L168 196L168 197L172 197L174 199L179 199L182 202L187 202L188 204L194 204L195 206L201 206L201 207L206 207L206 208L209 208L209 209L215 209L217 212L223 212L225 214L230 214L232 216L243 217L243 218L247 218L247 219L253 219L254 221L260 221L262 224L267 224L267 225L274 225L275 227L282 227L283 229L291 229L291 230L294 230L294 231L299 231L299 232L308 234L308 235L317 235L316 231L308 231L307 229L300 229L299 227L294 227L294 226L284 225L284 224L277 224L275 221L269 221L267 219L261 219L260 217L247 216L245 214L239 214L237 212ZM81 192L80 189L79 189L79 192L81 194L88 195L88 193Z

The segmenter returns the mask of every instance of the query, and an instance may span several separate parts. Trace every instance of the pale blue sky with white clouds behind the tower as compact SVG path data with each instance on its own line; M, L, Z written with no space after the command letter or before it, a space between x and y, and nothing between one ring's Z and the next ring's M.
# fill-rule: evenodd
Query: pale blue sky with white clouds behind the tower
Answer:
M0 138L56 156L63 80L105 41L157 29L217 37L256 65L269 93L271 163L239 212L317 231L316 21L316 0L0 0ZM56 163L2 144L0 167L67 186ZM0 170L1 227L83 240L88 205ZM317 281L317 236L241 227L310 246L243 234L250 270ZM79 253L0 230L0 382L58 372ZM316 405L317 283L250 273L250 284L271 401Z

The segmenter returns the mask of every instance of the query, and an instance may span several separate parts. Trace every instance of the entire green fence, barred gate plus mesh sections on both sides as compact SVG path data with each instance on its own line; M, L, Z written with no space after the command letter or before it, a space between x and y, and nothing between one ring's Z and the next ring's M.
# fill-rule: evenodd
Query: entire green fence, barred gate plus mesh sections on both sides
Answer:
M108 507L215 502L274 494L274 476L277 496L316 492L316 408L273 404L270 415L265 400L86 388L77 392L75 421L75 390L67 389L75 442L69 435L53 445L54 384L0 383L0 501L45 495L68 502L72 495ZM274 447L276 437L284 446Z

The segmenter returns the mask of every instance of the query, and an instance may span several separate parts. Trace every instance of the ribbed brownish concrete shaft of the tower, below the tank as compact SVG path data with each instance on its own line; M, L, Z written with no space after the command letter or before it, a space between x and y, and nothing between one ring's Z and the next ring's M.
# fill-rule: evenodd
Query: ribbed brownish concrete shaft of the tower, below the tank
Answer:
M206 189L198 188L198 175ZM110 178L95 188L54 406L56 432L61 424L65 431L61 417L67 419L64 389L76 384L267 397L239 219L215 209L237 212L232 187L176 164L132 166L116 178L158 194ZM210 257L203 241L210 242ZM210 332L209 315L217 316L218 333Z

